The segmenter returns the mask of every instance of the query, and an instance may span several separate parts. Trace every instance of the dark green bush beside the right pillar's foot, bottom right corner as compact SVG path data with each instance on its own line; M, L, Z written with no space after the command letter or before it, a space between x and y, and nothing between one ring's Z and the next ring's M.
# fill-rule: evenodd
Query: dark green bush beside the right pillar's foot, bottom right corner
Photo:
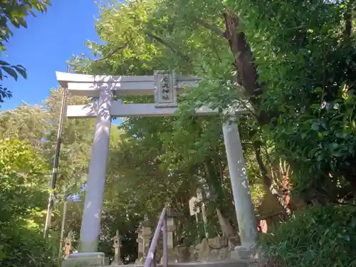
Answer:
M263 234L270 266L356 266L356 207L311 206Z

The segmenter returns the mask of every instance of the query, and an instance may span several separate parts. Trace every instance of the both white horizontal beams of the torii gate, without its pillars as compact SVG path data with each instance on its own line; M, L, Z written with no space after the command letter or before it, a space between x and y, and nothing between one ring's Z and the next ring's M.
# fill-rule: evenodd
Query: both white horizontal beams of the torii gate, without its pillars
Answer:
M67 88L71 95L98 97L99 88L105 87L111 88L113 96L155 95L155 92L158 92L155 88L159 85L157 82L158 73L162 72L157 72L152 76L94 76L60 72L56 72L56 75L61 86ZM172 73L168 73L168 75L165 73L162 78L164 77L175 78L172 93L168 95L169 100L158 103L159 95L157 93L156 103L122 104L121 101L112 101L111 117L169 117L177 115L177 95L184 93L184 88L197 87L201 79L194 76L176 76ZM97 111L98 103L70 105L68 106L67 117L97 117ZM231 112L239 114L246 112L246 109L237 108L234 111L231 110ZM197 108L196 113L197 115L217 115L218 111L203 106Z

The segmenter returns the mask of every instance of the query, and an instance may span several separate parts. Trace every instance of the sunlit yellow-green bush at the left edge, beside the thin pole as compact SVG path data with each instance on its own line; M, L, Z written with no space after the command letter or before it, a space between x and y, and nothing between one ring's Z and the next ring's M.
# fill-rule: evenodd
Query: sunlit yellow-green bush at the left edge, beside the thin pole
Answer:
M48 172L26 140L0 140L1 267L58 266L55 243L42 234Z

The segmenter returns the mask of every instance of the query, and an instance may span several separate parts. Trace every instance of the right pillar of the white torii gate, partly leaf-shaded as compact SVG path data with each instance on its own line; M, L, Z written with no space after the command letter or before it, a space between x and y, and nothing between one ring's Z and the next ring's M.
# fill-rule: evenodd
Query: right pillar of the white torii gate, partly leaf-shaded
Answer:
M223 133L241 245L251 248L257 240L256 219L236 120L224 122Z

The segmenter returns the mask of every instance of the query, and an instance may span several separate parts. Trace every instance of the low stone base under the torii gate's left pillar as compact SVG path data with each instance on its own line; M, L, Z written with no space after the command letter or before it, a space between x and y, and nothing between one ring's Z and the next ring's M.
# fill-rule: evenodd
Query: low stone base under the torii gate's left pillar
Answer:
M109 258L102 252L73 253L61 263L61 267L108 266Z

